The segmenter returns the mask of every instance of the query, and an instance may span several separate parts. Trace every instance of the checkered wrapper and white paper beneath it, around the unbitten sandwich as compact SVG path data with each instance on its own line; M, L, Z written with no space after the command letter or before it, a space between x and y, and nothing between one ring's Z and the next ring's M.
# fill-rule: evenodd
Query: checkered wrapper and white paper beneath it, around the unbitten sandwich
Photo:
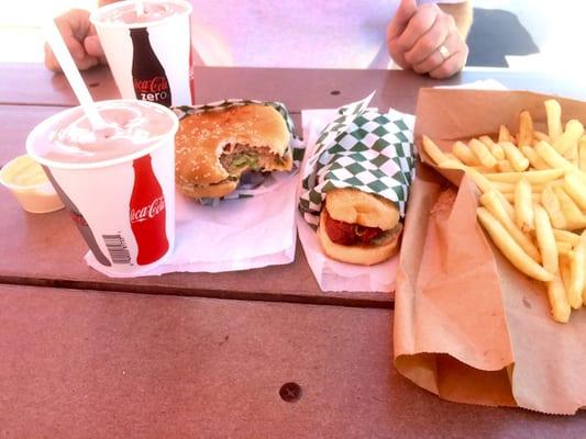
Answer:
M414 178L410 114L369 109L374 93L338 110L302 112L306 159L299 185L298 232L308 262L323 291L392 291L397 258L373 267L325 257L316 228L328 192L355 188L395 202L405 215Z

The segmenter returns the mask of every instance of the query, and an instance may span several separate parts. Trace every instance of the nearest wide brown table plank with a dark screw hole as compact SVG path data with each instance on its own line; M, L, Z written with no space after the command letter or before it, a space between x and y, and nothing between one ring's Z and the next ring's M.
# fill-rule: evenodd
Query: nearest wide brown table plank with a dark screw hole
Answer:
M0 285L0 436L572 438L586 414L452 404L390 364L391 312ZM284 402L286 382L301 397Z

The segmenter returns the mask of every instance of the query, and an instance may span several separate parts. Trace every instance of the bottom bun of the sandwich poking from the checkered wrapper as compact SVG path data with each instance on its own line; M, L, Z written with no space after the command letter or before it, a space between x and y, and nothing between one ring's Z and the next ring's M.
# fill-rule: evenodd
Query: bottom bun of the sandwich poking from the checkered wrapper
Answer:
M320 215L320 224L323 224L324 210ZM330 258L341 262L374 266L383 262L399 251L402 224L398 223L391 230L385 232L385 237L372 246L343 246L330 239L325 227L318 227L318 239L323 252Z

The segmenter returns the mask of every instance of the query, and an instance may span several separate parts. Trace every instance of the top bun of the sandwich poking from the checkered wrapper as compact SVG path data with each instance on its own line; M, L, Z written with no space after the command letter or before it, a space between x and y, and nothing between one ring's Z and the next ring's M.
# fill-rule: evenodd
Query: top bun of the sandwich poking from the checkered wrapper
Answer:
M390 230L399 222L399 210L391 201L357 189L334 189L325 196L325 209L333 219Z

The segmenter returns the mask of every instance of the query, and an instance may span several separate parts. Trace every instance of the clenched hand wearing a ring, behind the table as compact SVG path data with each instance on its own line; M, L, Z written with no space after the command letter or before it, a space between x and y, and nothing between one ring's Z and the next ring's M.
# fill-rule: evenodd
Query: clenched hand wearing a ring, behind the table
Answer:
M438 4L401 4L387 26L387 46L392 59L405 69L449 78L464 67L468 46L454 18Z

